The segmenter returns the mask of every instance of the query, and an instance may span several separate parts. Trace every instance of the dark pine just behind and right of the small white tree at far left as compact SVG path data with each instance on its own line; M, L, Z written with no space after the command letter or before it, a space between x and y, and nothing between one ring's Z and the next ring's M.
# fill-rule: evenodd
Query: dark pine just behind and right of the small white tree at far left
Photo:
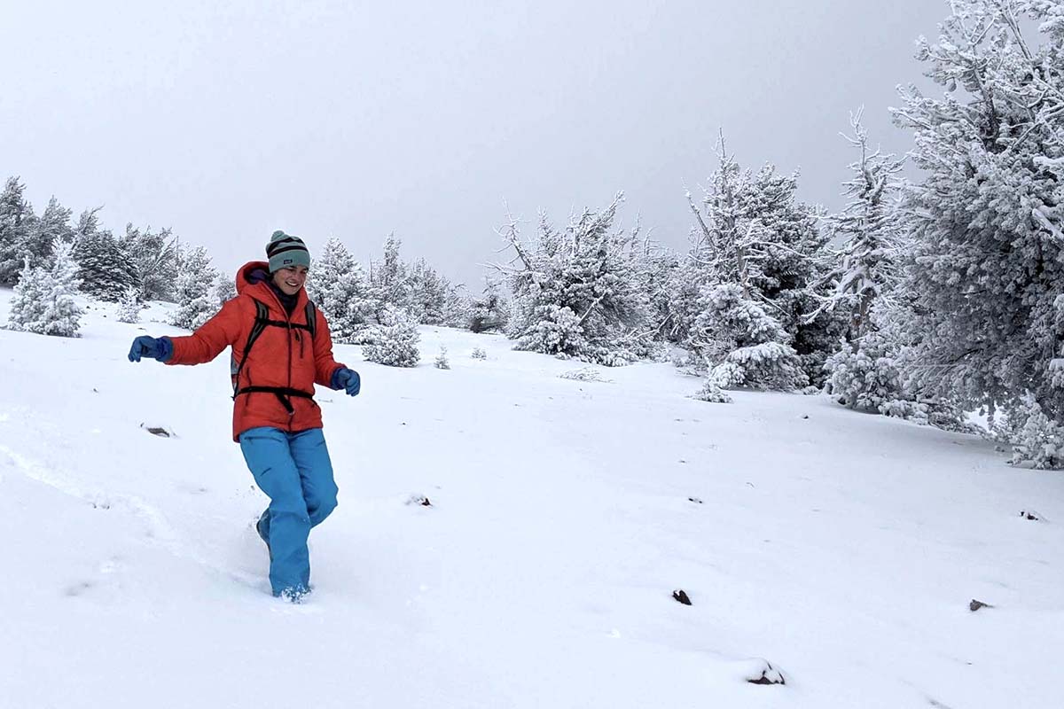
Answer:
M86 209L74 229L73 258L83 292L102 301L118 302L136 286L133 263L122 242L101 230L97 213Z

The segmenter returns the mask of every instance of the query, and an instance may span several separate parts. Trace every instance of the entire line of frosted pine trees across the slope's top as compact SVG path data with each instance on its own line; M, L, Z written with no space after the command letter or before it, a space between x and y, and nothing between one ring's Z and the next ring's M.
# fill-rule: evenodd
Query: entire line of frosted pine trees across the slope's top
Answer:
M937 40L918 44L936 88L904 86L891 109L912 135L908 155L882 153L862 113L850 117L838 213L801 201L798 173L744 166L721 136L709 180L683 196L684 251L619 226L617 195L562 225L541 214L531 234L508 217L509 257L476 297L403 261L394 237L368 269L331 239L307 289L339 341L379 348L382 327L409 338L418 322L444 324L604 366L671 357L712 402L736 388L826 391L959 431L978 410L1015 462L1061 467L1064 14L1051 0L955 0L950 13ZM903 178L907 159L918 178ZM203 300L185 326L217 307L204 278L181 278L205 252L179 269L166 231L115 238L92 210L72 224L54 199L37 217L19 190L10 180L0 195L0 283L69 244L85 292Z

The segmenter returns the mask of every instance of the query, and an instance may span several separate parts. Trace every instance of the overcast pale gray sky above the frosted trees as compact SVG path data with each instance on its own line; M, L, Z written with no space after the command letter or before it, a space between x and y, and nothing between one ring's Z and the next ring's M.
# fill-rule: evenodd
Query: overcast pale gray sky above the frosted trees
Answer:
M386 6L388 5L388 6ZM388 232L470 284L511 212L624 189L669 246L717 130L839 206L850 109L884 148L938 0L0 0L0 176L232 271L275 229L356 257ZM529 233L532 224L529 225Z

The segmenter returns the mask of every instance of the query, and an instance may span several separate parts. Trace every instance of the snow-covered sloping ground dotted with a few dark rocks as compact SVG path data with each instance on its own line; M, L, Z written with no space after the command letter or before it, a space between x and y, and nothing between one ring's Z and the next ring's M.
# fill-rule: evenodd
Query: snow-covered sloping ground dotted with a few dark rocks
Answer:
M1064 706L1064 476L977 438L446 328L414 370L337 345L363 393L319 391L340 506L293 606L228 357L132 365L181 333L94 307L0 331L4 708Z

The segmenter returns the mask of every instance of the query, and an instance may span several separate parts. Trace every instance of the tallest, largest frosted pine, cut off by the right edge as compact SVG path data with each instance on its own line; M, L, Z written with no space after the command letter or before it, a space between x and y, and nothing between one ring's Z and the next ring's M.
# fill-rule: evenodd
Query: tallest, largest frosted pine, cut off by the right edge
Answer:
M918 53L943 95L910 86L894 109L924 170L904 192L919 338L907 373L924 395L993 409L1030 394L1062 421L1064 13L1052 0L950 6L938 41L921 38Z

